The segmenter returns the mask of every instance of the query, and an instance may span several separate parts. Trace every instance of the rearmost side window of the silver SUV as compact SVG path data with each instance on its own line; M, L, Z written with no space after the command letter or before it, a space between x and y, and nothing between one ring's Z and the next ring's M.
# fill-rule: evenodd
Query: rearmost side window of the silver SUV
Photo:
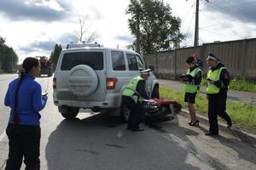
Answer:
M125 57L121 51L111 52L113 71L125 71Z

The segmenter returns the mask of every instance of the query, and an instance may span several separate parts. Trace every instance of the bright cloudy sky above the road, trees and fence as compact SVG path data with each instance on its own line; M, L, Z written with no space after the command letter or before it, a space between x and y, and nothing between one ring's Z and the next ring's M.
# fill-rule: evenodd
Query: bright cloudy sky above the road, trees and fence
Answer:
M126 48L135 40L125 14L130 0L0 0L0 36L22 62L28 56L49 57L55 43L75 42L79 15L88 15L86 35L109 48ZM195 0L164 0L182 20L185 39L194 44ZM199 43L256 37L256 0L200 0ZM85 35L85 36L86 36Z

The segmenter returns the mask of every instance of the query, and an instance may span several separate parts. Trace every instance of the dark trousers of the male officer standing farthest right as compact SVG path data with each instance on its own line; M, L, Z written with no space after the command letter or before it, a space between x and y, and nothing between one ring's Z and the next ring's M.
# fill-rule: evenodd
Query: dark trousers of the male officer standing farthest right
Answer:
M230 116L226 113L227 94L210 94L208 97L209 131L218 133L218 116L223 118L228 124L231 124Z

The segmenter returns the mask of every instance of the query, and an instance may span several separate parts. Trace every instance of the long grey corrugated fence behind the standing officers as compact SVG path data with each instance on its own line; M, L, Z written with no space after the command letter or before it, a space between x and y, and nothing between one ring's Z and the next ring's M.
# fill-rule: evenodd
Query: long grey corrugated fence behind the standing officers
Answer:
M182 75L187 66L185 59L198 54L207 73L207 54L212 52L229 69L232 77L256 78L256 38L231 42L206 43L195 48L145 55L147 65L153 65L158 77L173 78Z

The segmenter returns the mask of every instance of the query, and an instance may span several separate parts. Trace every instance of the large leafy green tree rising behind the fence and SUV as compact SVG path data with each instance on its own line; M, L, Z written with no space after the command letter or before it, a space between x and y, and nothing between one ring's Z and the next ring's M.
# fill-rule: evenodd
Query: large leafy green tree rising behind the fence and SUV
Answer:
M184 38L179 31L181 20L172 16L172 8L163 0L131 0L125 14L131 14L129 28L132 35L140 37L142 54L178 48ZM136 45L137 40L130 47Z

